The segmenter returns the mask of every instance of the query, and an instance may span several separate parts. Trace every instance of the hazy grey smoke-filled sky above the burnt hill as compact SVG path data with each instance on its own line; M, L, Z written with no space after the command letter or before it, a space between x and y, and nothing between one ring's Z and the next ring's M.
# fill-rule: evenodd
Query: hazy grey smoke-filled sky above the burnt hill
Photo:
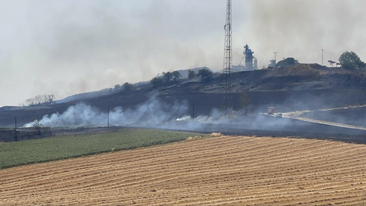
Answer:
M233 64L294 57L366 61L364 0L232 0ZM163 71L222 72L226 0L1 0L0 107L38 94L148 81Z

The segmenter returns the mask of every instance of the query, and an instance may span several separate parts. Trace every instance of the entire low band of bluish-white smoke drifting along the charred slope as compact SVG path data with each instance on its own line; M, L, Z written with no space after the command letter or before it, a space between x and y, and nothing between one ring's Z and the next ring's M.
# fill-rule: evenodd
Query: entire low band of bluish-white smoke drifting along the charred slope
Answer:
M354 130L337 126L329 126L290 118L270 117L257 114L250 116L226 115L220 110L213 109L210 115L200 115L193 119L189 114L187 102L172 104L161 102L155 97L135 108L123 109L117 107L110 111L111 126L145 127L158 129L191 130L198 132L242 132L260 133L265 135L277 132L284 134L346 134L362 135L364 130ZM107 113L79 103L70 106L62 114L45 115L40 123L49 127L76 128L107 126ZM31 127L33 122L23 127ZM249 131L249 132L248 132ZM268 133L269 132L269 133ZM285 132L285 133L284 133Z

